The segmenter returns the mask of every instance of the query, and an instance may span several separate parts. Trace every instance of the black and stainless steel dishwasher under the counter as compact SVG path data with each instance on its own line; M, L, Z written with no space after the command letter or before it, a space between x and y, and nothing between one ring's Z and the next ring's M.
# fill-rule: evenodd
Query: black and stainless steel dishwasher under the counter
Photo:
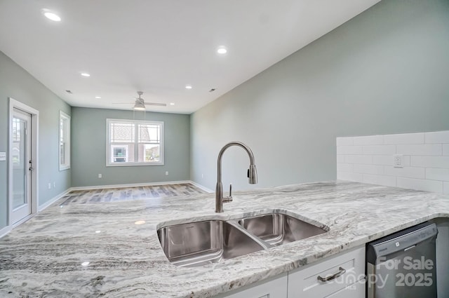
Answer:
M436 298L436 224L424 222L366 247L368 298Z

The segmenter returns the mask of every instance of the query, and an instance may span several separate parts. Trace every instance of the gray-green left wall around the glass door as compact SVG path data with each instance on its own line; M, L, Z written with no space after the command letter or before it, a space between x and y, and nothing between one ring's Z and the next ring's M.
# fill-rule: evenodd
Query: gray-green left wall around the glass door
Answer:
M39 205L70 187L71 171L59 171L59 111L70 107L13 60L0 52L0 151L8 150L8 97L39 110ZM0 229L7 225L7 163L0 161ZM56 187L53 188L53 182ZM52 184L48 190L48 183Z

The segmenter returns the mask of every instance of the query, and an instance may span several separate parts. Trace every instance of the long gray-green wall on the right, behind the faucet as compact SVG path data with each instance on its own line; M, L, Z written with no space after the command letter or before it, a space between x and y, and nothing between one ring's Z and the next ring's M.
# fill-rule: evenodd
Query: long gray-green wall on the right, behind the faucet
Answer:
M192 114L191 180L213 189L231 140L259 184L335 180L335 137L449 129L449 1L384 0ZM248 189L248 158L224 156Z

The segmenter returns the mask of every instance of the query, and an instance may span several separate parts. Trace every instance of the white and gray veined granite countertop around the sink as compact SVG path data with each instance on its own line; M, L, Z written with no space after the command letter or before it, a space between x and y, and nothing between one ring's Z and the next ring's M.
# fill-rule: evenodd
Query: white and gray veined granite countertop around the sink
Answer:
M428 219L449 217L449 196L318 182L236 191L224 208L215 214L215 194L62 208L55 203L0 239L0 297L213 297ZM275 209L330 231L194 268L170 264L156 234L167 224ZM145 224L136 225L138 220Z

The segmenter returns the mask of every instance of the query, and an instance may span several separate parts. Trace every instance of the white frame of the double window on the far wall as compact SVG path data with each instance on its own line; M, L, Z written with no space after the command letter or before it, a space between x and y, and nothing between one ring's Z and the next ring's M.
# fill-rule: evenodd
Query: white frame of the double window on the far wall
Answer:
M158 162L125 162L125 163L112 163L111 162L111 156L112 156L112 147L125 147L125 144L119 145L119 144L111 144L111 133L110 133L110 127L111 123L133 123L135 124L135 154L134 156L138 156L138 144L139 144L139 137L138 137L138 124L152 124L152 125L159 125L161 128L161 143L160 143L160 160ZM112 119L107 118L106 119L106 166L107 167L129 167L129 166L141 166L141 165L163 165L164 164L164 130L163 130L163 121L147 121L147 120L128 120L128 119ZM128 160L128 151L126 151L126 160Z

